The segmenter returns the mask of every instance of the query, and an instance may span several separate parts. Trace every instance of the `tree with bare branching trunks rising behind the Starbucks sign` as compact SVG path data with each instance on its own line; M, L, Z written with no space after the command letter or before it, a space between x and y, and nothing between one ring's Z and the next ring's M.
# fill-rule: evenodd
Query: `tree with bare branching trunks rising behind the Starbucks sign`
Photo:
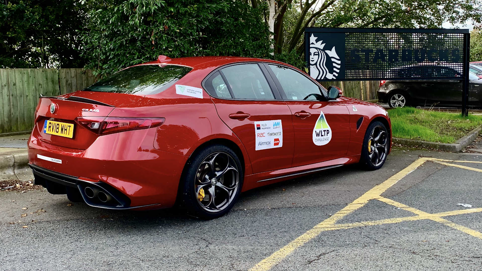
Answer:
M443 22L480 23L479 0L251 0L267 3L275 54L301 55L305 27L440 28ZM270 21L271 18L271 21Z

